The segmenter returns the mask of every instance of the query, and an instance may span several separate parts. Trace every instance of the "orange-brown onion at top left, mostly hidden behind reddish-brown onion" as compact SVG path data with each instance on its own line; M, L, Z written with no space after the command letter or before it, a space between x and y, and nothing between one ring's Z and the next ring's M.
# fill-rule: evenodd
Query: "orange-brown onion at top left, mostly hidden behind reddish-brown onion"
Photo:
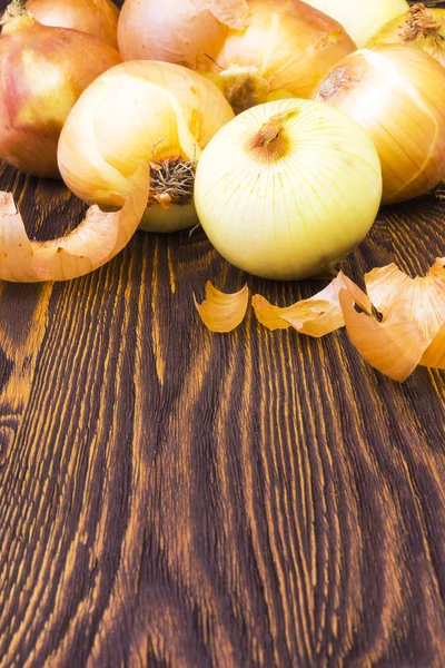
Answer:
M27 0L24 7L43 26L72 28L118 46L119 10L111 0Z

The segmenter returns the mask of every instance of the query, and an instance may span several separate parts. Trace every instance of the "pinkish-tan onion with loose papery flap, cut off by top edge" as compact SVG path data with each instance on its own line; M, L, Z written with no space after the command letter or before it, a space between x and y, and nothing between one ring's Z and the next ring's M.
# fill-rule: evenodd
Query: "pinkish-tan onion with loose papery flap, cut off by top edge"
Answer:
M126 0L118 26L123 60L165 60L197 69L215 58L227 28L243 30L245 0Z

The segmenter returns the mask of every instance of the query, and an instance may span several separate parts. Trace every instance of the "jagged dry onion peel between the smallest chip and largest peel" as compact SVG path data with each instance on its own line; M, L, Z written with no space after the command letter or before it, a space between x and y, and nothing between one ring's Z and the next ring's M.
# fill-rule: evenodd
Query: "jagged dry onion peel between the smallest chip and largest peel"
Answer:
M293 326L300 334L318 338L344 326L338 293L345 287L367 313L372 312L369 297L342 272L325 289L291 306L274 306L261 295L254 295L251 303L258 321L268 330Z

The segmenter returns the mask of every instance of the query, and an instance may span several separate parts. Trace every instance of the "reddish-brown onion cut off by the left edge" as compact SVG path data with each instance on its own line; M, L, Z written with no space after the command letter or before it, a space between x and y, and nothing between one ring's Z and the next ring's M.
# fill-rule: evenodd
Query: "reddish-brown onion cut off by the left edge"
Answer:
M2 21L0 158L28 174L57 177L57 143L71 107L120 56L83 32L42 26L18 2Z

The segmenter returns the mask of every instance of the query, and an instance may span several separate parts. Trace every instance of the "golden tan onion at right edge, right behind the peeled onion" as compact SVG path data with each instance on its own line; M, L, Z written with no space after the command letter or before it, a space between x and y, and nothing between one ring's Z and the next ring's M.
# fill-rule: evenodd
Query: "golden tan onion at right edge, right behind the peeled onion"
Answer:
M445 177L444 90L437 60L398 45L352 53L322 84L316 99L352 116L374 140L384 204L427 193Z

